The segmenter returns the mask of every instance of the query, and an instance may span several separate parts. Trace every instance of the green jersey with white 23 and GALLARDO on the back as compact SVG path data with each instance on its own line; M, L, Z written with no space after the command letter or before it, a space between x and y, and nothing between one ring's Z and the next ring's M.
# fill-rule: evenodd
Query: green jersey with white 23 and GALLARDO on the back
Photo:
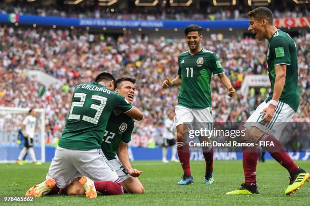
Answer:
M114 109L132 109L124 96L99 83L75 87L69 117L58 145L67 149L100 148L107 121Z

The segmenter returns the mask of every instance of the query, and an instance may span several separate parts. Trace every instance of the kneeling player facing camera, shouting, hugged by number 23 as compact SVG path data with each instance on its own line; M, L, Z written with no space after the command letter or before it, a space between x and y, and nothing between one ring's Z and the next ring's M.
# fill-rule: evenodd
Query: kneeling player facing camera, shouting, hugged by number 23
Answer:
M132 104L135 98L135 82L132 77L123 77L115 81L115 92L125 96ZM131 140L131 133L134 128L134 120L120 111L113 111L108 120L103 141L101 144L102 151L108 159L110 165L117 172L124 191L128 193L144 193L144 188L138 180L138 176L142 171L133 169L129 162L127 144ZM118 157L118 159L117 159ZM68 186L65 193L69 195L85 194L85 190L79 182L80 178L73 180L72 186ZM95 181L96 190L104 193L104 188L101 188Z

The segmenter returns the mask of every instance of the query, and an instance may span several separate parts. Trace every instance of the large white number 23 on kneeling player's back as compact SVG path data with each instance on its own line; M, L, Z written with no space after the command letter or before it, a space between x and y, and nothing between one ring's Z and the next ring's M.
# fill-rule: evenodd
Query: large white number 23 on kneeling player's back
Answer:
M69 114L69 118L68 119L69 120L71 120L71 119L73 119L73 120L80 120L81 115L72 114L72 111L73 111L74 107L83 107L83 105L85 103L85 99L86 99L86 93L74 93L74 97L75 98L81 98L81 99L80 99L80 101L72 102L72 106L71 106L71 109L70 109L70 114ZM103 97L103 96L92 95L92 99L101 101L100 105L92 104L91 107L90 107L91 109L97 110L97 112L95 114L95 117L88 117L86 115L83 115L82 120L84 120L86 122L93 123L93 124L98 124L98 121L99 121L99 118L101 116L101 113L102 113L102 111L103 111L103 109L105 107L107 98Z

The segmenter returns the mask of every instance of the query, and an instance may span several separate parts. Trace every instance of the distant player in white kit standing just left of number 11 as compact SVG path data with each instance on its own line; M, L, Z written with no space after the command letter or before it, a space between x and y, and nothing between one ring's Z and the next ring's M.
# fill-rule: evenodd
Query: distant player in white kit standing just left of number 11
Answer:
M174 126L173 126L173 118L174 118L174 113L170 112L168 114L168 118L165 120L164 123L164 132L163 132L163 163L168 163L167 160L167 150L168 147L172 148L172 155L171 155L171 161L172 162L179 162L176 159L176 153L177 153L177 148L175 144L175 139L174 139Z

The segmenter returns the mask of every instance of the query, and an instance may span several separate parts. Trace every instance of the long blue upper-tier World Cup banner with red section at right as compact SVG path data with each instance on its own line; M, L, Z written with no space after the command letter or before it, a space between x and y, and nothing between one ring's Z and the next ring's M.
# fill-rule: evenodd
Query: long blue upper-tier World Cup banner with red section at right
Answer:
M279 25L290 25L290 27L308 26L310 17L288 18L289 20L275 20ZM298 20L299 19L299 20ZM36 24L37 26L63 26L63 27L93 27L93 28L185 28L189 24L198 24L203 28L248 28L249 21L243 20L206 20L206 21L176 21L176 20L113 20L95 18L62 18L42 17L36 15L0 14L2 23ZM282 22L286 22L282 24ZM291 23L293 22L293 23Z

